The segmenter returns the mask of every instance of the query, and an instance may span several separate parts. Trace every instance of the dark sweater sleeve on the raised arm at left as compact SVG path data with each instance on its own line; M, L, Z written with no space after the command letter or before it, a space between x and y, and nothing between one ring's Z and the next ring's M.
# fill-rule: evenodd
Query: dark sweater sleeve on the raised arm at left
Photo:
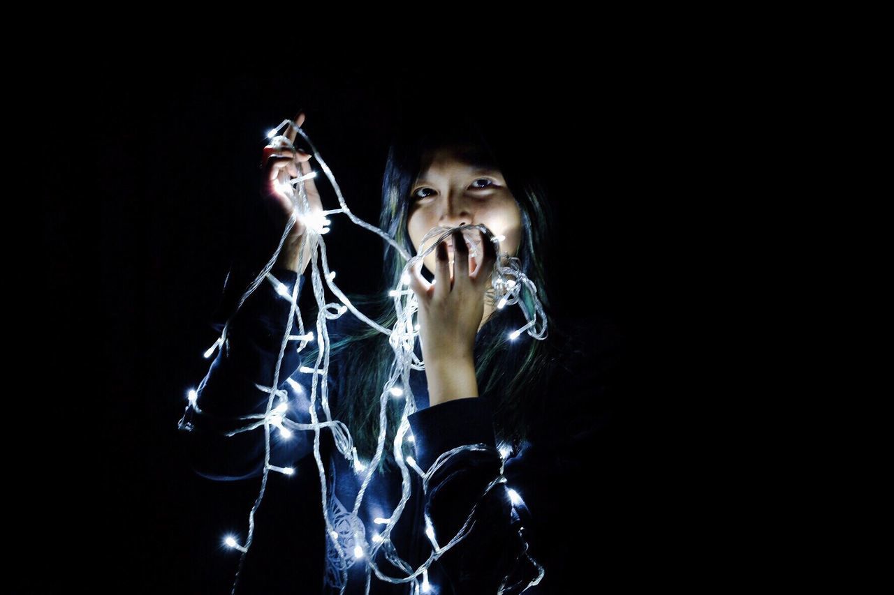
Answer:
M264 280L246 298L233 315L226 340L199 384L195 406L187 406L177 426L192 469L208 479L234 481L256 477L264 471L263 423L231 436L226 434L260 421L241 417L266 413L274 366L291 313L291 299L281 292L291 297L295 284L299 284L299 293L304 284L302 275L288 269L275 267L271 274L284 287L274 287L273 282ZM220 326L223 330L223 325ZM299 334L297 323L292 323L289 333ZM277 381L277 388L282 392L274 397L271 408L283 403L285 396L288 408L283 418L310 423L310 383L314 374L299 371L303 364L302 354L297 350L299 345L298 340L292 339L286 343ZM308 362L310 366L314 364ZM332 369L330 372L332 377ZM330 382L329 386L334 385ZM270 465L290 467L312 451L313 432L289 431L287 422L283 425L287 432L274 424L269 427Z

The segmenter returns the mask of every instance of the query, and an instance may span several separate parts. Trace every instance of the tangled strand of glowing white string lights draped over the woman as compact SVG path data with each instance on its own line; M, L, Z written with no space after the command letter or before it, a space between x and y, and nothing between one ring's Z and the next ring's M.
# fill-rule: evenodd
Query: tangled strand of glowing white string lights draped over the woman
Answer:
M325 160L319 154L316 147L310 141L304 130L301 130L294 124L294 122L286 120L281 123L276 129L270 131L270 134L268 136L273 138L273 140L271 141L272 144L282 148L292 148L292 143L289 138L277 135L277 132L281 130L283 126L291 126L293 130L295 130L303 138L305 138L305 140L307 140L308 145L311 147L311 150L313 152L313 157L316 158L316 161L320 164L320 168L323 172L325 172L326 177L332 184L335 196L338 198L340 208L323 211L322 214L311 213L304 182L305 180L316 176L316 172L299 176L298 178L291 180L289 184L279 184L279 189L283 192L284 195L291 198L292 205L294 206L291 217L286 223L285 229L283 230L283 237L280 239L273 256L270 257L270 260L263 267L262 271L257 275L257 278L249 284L248 289L246 289L244 294L241 296L235 310L230 315L227 322L223 325L223 331L220 338L217 339L215 341L215 344L212 345L211 348L209 348L205 352L205 357L210 357L215 352L216 348L227 348L227 331L229 329L230 322L232 321L233 316L235 316L235 314L239 312L240 307L245 303L245 300L249 298L252 292L254 292L263 282L270 282L283 299L287 299L291 302L289 321L286 325L285 330L283 331L283 339L280 343L279 355L277 357L276 365L274 368L273 383L269 387L256 384L258 390L262 390L269 394L269 398L267 399L266 413L241 416L239 417L239 420L241 422L244 422L244 425L235 430L224 433L225 436L232 436L240 432L251 432L263 427L266 443L261 487L257 494L257 499L255 500L254 506L249 512L248 535L244 543L242 544L236 541L232 536L227 537L225 542L230 547L239 549L241 552L241 559L244 560L251 547L254 537L255 514L261 504L262 499L264 499L268 473L271 471L274 471L275 473L284 473L287 475L293 473L291 467L271 465L271 432L280 432L283 439L287 439L291 436L291 432L313 431L313 453L320 479L320 503L325 522L325 531L327 539L331 541L332 548L337 553L337 556L339 558L339 564L337 565L337 567L342 573L342 593L344 592L344 589L347 585L348 567L359 559L363 559L367 564L367 593L369 592L370 578L372 574L375 574L375 577L377 579L385 582L412 582L417 593L427 592L430 588L428 584L427 572L429 566L431 566L431 564L439 557L442 557L445 552L449 551L457 543L466 538L468 532L471 530L472 525L474 525L473 517L475 516L477 504L473 506L471 510L469 510L468 516L466 517L466 522L462 524L460 530L453 537L451 537L450 540L444 542L443 545L440 545L437 541L434 540L433 532L427 532L429 540L432 542L431 554L429 557L427 557L426 561L421 566L418 566L414 569L401 558L390 540L392 529L401 518L404 507L410 498L410 473L417 473L421 477L423 490L424 493L426 493L428 481L434 475L434 473L436 473L438 469L440 469L451 457L455 457L461 452L496 450L496 454L501 457L503 461L505 461L506 454L505 448L494 449L493 446L486 444L469 444L460 446L459 448L453 448L450 451L443 453L443 455L438 457L438 459L434 461L434 463L427 470L421 469L417 465L414 442L411 439L405 441L407 432L409 432L409 415L412 415L417 410L416 400L413 396L413 391L410 388L409 373L410 370L425 370L425 362L417 357L414 351L418 337L418 327L413 320L414 314L416 314L417 312L417 298L415 293L411 289L409 289L409 271L414 264L417 264L417 261L422 260L432 250L434 250L441 240L449 238L454 230L461 230L463 232L463 234L468 239L470 254L477 258L477 262L480 262L482 254L481 250L483 249L483 247L478 245L477 234L475 233L476 230L480 230L485 239L490 239L491 241L493 241L494 248L498 255L497 264L494 265L493 272L491 274L491 288L489 289L489 291L493 291L493 304L495 304L497 308L501 309L506 306L519 306L519 309L524 314L525 319L527 320L527 324L510 333L510 339L517 339L522 333L527 333L527 335L529 335L533 339L545 339L547 333L546 316L544 314L544 310L540 304L540 301L537 299L536 287L534 283L530 281L527 278L527 275L525 275L525 273L520 270L519 259L512 257L506 253L502 253L500 251L500 239L493 237L493 234L490 232L490 230L487 230L484 225L468 224L460 225L455 228L436 227L430 230L420 243L420 246L424 246L426 244L426 240L435 238L431 245L427 247L426 250L423 251L421 254L417 254L417 256L410 256L403 247L401 247L383 230L380 230L370 223L360 220L355 214L351 213L350 208L348 207L344 197L342 196L342 190L340 189L333 176L333 172L325 163ZM373 233L387 241L392 247L398 250L401 256L403 256L403 258L406 260L406 264L404 265L401 274L401 281L398 287L392 289L389 292L389 295L394 298L394 311L397 314L397 322L394 323L394 326L391 329L384 328L380 324L375 323L375 321L367 317L366 314L360 312L350 302L350 299L344 295L342 290L339 289L338 286L335 284L335 274L329 269L329 263L326 256L325 240L323 239L323 235L325 235L325 233L329 231L328 225L331 224L331 221L327 217L333 214L347 215L351 222L366 230L372 231ZM309 242L311 247L311 260L309 263L311 272L310 277L317 306L315 331L308 331L305 328L305 323L298 306L299 283L294 284L294 287L292 288L292 291L290 293L287 290L286 285L276 279L276 277L271 272L271 270L274 268L274 264L277 262L277 258L283 248L284 242L288 238L290 230L298 221L299 216L302 218L302 221L308 222L308 225L306 227L307 231L304 234L301 240L301 246L299 247L299 254L304 253L304 244ZM330 292L338 299L337 302L326 302L326 287L328 287ZM523 291L527 291L527 303L533 304L532 309L526 307L526 301L522 298ZM357 316L358 320L363 321L363 323L366 323L370 327L374 328L376 331L379 331L380 333L387 336L394 354L394 359L391 365L391 373L389 374L387 381L384 382L384 385L381 388L381 392L379 393L379 434L377 445L375 448L375 456L372 458L371 461L368 462L363 461L358 457L358 451L357 448L353 445L353 440L350 435L348 426L341 420L333 419L333 415L330 411L329 406L328 373L330 352L329 331L326 321L337 319L345 314L348 310L350 310L355 316ZM297 334L292 334L292 325L296 323L298 326ZM303 349L307 348L308 344L313 340L316 340L318 345L316 364L312 368L307 366L302 366L300 368L300 372L308 373L312 376L310 381L311 390L309 395L309 414L311 423L296 423L285 417L285 412L288 411L288 408L290 406L289 395L287 394L287 391L278 390L276 388L280 385L280 365L283 362L283 356L286 352L286 349L295 349L296 353L299 353ZM297 343L297 347L290 345L291 343ZM291 381L291 378L288 380ZM198 388L199 394L201 393L203 387L204 382ZM393 444L391 445L395 461L399 466L401 472L401 499L397 507L392 511L392 515L388 516L387 519L383 519L384 528L380 529L380 531L375 535L375 539L367 540L367 529L360 521L358 511L363 501L364 494L367 490L367 486L373 478L373 473L379 465L381 458L384 456L387 433L386 408L388 406L389 400L395 397L403 398L401 423L397 429ZM325 416L325 419L323 420L321 420L317 415L317 398L319 398L319 402L323 410L323 415ZM196 391L190 391L189 401L190 402L187 406L187 409L189 410L190 407L192 407L193 409L198 411L198 404L196 403ZM184 415L184 419L181 419L181 429L185 424L185 417L186 416ZM320 432L323 430L332 432L335 448L337 448L338 451L342 453L342 456L345 457L351 463L351 465L353 465L353 468L355 472L358 473L358 476L362 477L362 482L360 484L356 499L354 500L353 507L347 513L347 519L339 519L337 522L332 518L333 515L330 514L330 511L333 510L333 494L331 493L333 490L330 486L332 486L333 484L330 481L331 478L327 478L326 476L326 469L323 462L323 457L320 452ZM502 487L502 489L505 489L504 484L505 477L503 476L503 468L501 466L500 472L493 478L493 481L490 482L489 485L487 485L481 496L484 497L487 492L493 490L494 488ZM515 504L516 499L513 498L512 500L513 504ZM428 522L429 519L426 516L426 524ZM344 535L342 534L342 532L337 531L336 525L340 527L349 526L351 528L350 530L355 532L355 534L349 536L354 540L353 543L355 545L353 550L348 550L344 546ZM387 559L395 567L395 569L401 570L401 575L392 576L391 574L387 574L375 563L376 555L380 551L384 553L385 559ZM530 557L528 557L528 559L539 569L539 573L536 578L530 581L527 585L532 586L540 582L540 580L543 578L544 568L543 566L537 564L536 561L531 559ZM506 587L506 581L508 579L509 577L506 577L506 579L503 581L500 592L503 592L503 589Z

